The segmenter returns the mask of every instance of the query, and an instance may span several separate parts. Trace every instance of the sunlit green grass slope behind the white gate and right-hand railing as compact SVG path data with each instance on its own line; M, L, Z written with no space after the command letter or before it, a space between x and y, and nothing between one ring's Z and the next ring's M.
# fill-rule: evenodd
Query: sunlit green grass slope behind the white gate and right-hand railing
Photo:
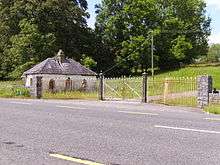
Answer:
M194 91L197 89L196 78L200 75L210 75L213 77L213 87L220 89L220 65L206 66L190 66L178 70L168 71L155 75L154 82L149 78L149 96L162 95L164 92L165 78L175 78L174 82L169 85L169 92L181 93L186 91ZM193 79L190 79L193 78ZM142 95L141 85L142 77L107 79L106 84L110 86L106 88L106 95L121 98L139 98ZM180 83L181 82L181 83ZM127 83L133 91L125 85ZM135 92L134 92L135 91Z

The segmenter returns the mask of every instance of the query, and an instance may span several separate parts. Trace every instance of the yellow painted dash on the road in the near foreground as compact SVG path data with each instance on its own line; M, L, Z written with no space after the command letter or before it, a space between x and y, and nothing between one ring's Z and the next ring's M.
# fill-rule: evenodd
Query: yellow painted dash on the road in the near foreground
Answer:
M85 164L85 165L104 165L101 163L96 163L96 162L92 162L92 161L88 161L88 160L82 160L79 158L72 158L72 157L64 156L64 155L60 155L60 154L50 154L50 156L54 157L54 158L58 158L58 159L63 159L63 160L75 162L75 163Z

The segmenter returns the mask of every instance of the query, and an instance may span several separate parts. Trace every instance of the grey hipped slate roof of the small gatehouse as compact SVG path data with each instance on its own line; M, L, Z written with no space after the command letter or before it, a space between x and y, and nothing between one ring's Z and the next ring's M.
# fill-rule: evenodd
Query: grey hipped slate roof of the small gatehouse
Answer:
M82 66L73 59L65 58L62 63L57 57L48 58L23 73L23 76L31 74L58 74L58 75L84 75L96 76L92 70Z

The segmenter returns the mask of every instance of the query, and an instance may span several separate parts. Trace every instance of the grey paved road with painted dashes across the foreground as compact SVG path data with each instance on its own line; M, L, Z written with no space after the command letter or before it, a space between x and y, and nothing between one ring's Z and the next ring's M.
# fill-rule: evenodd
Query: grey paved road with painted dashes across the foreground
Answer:
M220 116L123 102L0 99L1 165L220 164Z

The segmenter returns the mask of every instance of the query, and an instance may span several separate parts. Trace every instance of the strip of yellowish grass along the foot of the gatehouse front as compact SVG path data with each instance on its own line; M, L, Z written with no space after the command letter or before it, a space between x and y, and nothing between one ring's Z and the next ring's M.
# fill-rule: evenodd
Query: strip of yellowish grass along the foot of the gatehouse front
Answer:
M87 99L97 100L97 92L80 92L80 91L69 91L69 92L45 92L43 93L44 99Z

